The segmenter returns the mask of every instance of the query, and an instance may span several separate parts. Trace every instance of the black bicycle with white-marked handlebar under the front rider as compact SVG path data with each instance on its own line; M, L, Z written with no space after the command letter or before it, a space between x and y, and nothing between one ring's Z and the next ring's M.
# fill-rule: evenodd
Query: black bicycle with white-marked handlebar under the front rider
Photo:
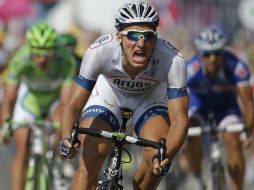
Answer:
M108 138L113 141L113 149L108 159L103 176L98 180L97 190L122 190L122 151L124 144L135 144L142 147L152 147L158 149L159 161L165 159L166 154L166 139L162 138L160 142L154 142L147 139L136 138L126 135L126 123L131 117L131 112L128 109L122 109L123 121L118 132L108 132L98 129L82 128L76 122L73 125L70 142L74 145L77 141L78 134L87 134L94 137ZM130 155L129 155L130 156Z

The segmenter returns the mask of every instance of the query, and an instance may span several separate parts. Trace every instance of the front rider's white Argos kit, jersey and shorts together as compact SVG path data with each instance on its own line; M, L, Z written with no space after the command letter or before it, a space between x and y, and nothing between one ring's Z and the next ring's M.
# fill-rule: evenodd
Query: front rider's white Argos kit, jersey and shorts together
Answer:
M134 125L142 126L147 117L167 114L167 100L187 95L186 60L169 42L157 39L149 64L135 79L124 71L122 54L116 34L101 36L86 51L76 82L93 92L83 118L107 113L113 125L121 120L119 107L128 107L134 111Z

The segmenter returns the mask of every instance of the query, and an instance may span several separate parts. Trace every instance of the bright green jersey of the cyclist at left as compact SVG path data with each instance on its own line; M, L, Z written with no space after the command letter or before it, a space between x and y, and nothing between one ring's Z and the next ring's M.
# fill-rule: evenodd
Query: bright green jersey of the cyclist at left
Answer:
M55 50L45 70L40 69L31 59L28 45L21 47L9 63L7 84L23 82L30 94L39 100L42 107L48 107L59 97L63 84L72 84L76 75L76 60L65 48ZM32 102L29 99L24 101Z

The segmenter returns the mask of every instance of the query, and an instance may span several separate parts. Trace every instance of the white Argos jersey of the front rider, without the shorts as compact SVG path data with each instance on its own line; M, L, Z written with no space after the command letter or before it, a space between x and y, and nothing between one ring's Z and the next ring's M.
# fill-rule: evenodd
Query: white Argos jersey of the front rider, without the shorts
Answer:
M81 64L80 84L89 83L86 80L96 81L99 74L103 74L114 88L128 93L147 92L160 82L167 82L172 90L185 88L186 61L172 44L158 38L150 63L133 80L122 67L119 43L116 34L109 34L88 48Z

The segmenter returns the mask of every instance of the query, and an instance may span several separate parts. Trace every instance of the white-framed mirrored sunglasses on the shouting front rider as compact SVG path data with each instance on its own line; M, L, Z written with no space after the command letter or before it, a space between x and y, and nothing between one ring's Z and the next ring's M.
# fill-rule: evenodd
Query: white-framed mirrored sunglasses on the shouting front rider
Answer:
M157 36L157 33L152 30L126 30L120 32L122 35L127 36L127 38L131 41L137 42L140 38L143 38L145 42L154 39Z

